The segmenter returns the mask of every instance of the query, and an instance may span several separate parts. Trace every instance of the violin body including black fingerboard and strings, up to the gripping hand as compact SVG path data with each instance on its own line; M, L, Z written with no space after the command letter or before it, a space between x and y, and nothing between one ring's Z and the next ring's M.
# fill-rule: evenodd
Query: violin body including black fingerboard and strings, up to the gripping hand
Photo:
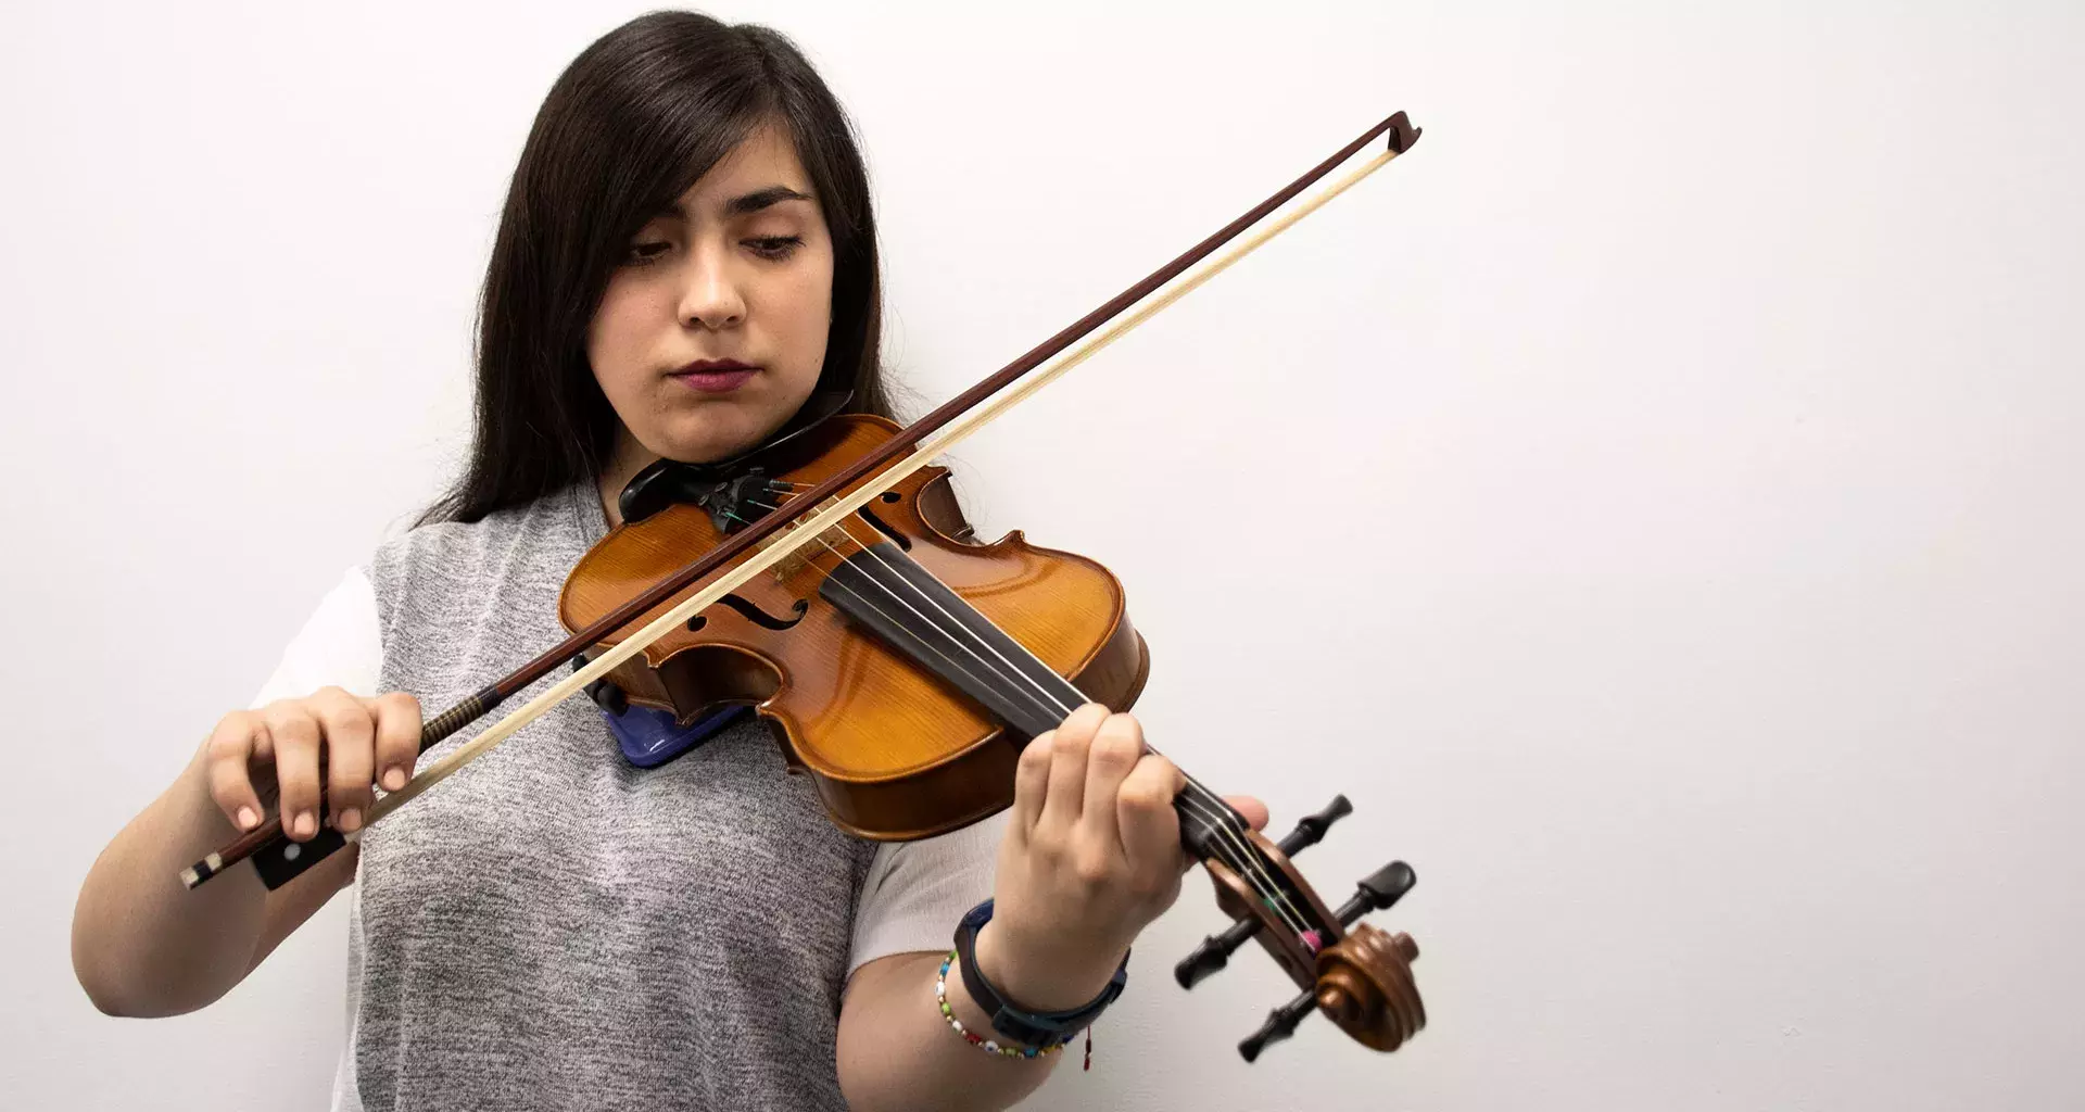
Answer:
M684 553L721 545L894 432L882 417L849 413L792 438L780 459L751 463L751 474L655 463L623 490L623 524L571 570L559 620L573 632L594 626L673 574ZM1013 741L1055 728L1080 703L1128 709L1151 657L1107 567L1020 532L992 545L959 540L970 526L947 476L915 472L667 630L607 682L682 724L755 705L790 772L807 774L826 814L861 839L945 835L1009 807ZM628 517L669 484L673 501Z

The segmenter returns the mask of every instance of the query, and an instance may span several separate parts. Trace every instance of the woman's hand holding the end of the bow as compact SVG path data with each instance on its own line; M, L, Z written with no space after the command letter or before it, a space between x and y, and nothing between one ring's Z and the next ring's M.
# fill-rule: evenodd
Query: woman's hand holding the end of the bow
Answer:
M327 686L304 699L231 711L202 743L211 799L225 818L242 832L261 826L256 778L273 782L292 841L319 832L321 793L327 822L342 835L354 832L375 799L373 784L402 789L417 757L419 701L402 691L363 699Z

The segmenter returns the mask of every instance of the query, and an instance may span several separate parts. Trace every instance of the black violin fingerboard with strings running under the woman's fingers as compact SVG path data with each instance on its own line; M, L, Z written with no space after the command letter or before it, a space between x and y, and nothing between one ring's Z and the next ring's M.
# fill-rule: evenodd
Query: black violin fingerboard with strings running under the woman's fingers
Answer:
M890 540L847 557L826 576L819 597L1022 736L1055 730L1078 705L1090 703L1072 680ZM1197 860L1211 855L1205 843L1213 824L1245 826L1230 803L1193 776L1174 797L1174 812L1180 814L1180 841Z

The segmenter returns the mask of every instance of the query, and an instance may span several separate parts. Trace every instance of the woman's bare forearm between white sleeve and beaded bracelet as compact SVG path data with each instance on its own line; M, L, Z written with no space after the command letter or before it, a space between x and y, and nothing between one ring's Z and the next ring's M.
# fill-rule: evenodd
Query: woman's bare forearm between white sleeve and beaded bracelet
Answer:
M1049 1079L1065 1051L1038 1058L984 1054L949 1029L934 1006L942 956L905 953L863 966L840 1012L840 1089L855 1112L995 1112ZM949 1008L967 1031L999 1039L949 968Z

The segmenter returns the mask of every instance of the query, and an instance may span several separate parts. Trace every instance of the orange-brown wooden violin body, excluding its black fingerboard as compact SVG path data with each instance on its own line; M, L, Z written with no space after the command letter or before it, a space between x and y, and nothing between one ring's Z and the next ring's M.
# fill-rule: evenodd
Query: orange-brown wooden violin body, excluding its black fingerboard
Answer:
M780 486L765 505L836 474L894 432L882 417L844 415L792 438L763 459L763 476ZM765 513L763 505L749 509ZM730 703L757 707L790 770L813 778L832 820L884 841L940 835L1011 805L1026 739L821 599L819 586L842 559L897 545L1084 697L1128 709L1143 691L1149 653L1115 576L1090 559L1028 545L1020 532L976 542L947 469L909 476L844 528L844 536L813 540L705 609L692 628L623 661L611 680L630 701L682 722ZM721 540L713 511L692 503L617 526L573 567L559 618L584 630Z

